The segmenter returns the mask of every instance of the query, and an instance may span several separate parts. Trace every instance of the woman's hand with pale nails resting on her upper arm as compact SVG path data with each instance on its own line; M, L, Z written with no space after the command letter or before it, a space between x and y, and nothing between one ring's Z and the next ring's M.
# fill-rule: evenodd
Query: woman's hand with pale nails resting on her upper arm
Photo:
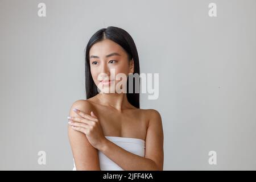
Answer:
M93 113L86 114L78 109L73 109L80 117L68 117L68 122L72 129L84 133L94 148L100 148L105 142L106 138L103 134L100 121Z

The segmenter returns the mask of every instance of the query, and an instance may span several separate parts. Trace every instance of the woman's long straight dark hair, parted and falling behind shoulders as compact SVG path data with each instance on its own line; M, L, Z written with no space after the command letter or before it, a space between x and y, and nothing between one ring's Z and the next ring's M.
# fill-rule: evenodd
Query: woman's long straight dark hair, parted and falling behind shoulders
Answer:
M97 85L94 83L92 74L90 73L90 59L89 59L89 51L90 48L96 42L99 42L103 39L109 39L113 42L119 44L128 54L129 60L134 60L134 73L139 72L139 56L137 52L137 48L131 38L130 34L123 30L122 28L118 27L108 27L102 28L98 30L93 36L90 38L85 52L85 90L86 90L86 98L94 97L98 94ZM139 108L139 93L135 93L135 82L133 82L133 92L129 93L129 79L127 79L127 100L130 102L131 105Z

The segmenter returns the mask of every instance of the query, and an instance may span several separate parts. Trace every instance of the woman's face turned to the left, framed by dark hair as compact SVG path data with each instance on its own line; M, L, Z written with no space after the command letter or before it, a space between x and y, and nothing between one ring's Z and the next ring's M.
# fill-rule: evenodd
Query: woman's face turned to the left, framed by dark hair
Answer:
M126 82L128 74L134 73L133 59L129 60L125 49L109 39L101 40L90 48L89 60L93 81L104 93L110 93L110 90L113 93L122 80L118 76L126 76Z

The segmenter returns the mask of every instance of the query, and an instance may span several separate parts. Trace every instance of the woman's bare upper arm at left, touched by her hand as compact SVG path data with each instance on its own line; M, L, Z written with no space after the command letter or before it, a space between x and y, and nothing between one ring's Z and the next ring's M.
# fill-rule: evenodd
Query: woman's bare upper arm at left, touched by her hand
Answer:
M80 109L87 114L92 111L92 106L86 100L78 100L74 102L69 111L70 116L79 117L79 115L73 111L73 108ZM71 144L76 169L100 171L98 150L89 143L86 135L79 131L73 130L71 126L68 126L68 137L69 143Z

